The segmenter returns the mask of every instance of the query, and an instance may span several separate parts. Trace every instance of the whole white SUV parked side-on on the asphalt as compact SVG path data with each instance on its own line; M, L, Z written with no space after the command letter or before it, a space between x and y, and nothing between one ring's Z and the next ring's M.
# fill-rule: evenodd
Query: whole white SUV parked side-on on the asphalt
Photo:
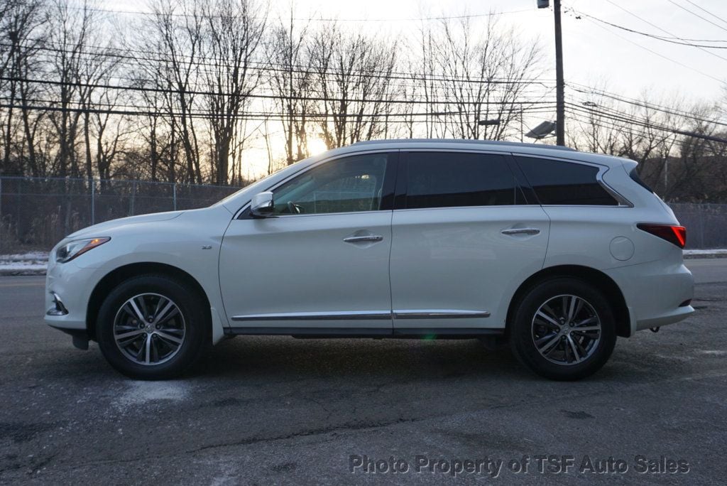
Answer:
M212 207L109 221L52 250L46 322L169 378L231 335L510 341L548 378L686 318L686 233L636 163L567 148L382 140Z

